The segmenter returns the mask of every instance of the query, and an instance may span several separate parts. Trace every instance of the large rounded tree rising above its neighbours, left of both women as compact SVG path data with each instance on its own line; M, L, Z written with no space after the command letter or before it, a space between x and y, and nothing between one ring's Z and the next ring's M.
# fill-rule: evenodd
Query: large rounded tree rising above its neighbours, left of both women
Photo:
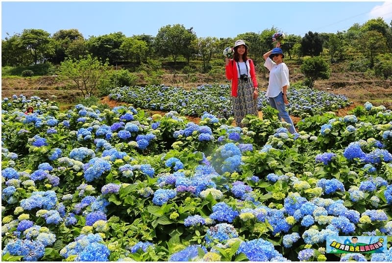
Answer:
M156 53L163 57L172 56L176 63L179 55L189 55L193 39L191 34L194 34L192 28L186 29L182 24L162 26L154 39Z

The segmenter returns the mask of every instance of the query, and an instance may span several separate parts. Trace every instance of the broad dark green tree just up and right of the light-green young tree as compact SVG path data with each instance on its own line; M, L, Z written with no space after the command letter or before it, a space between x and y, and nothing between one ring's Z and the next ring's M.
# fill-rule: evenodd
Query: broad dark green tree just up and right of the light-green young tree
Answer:
M92 36L87 42L87 47L89 53L100 58L102 63L108 60L111 65L116 65L123 57L120 47L125 38L122 32L110 33L98 37Z

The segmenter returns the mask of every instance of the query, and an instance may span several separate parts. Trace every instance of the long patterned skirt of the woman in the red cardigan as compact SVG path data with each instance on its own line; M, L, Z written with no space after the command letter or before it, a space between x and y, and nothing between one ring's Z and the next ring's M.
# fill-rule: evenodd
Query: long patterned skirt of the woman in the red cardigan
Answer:
M234 120L239 127L245 126L241 123L245 115L252 114L255 116L259 116L259 111L257 108L257 98L253 99L253 91L253 83L250 79L246 82L242 81L241 79L238 79L238 96L231 96L231 101L233 102Z

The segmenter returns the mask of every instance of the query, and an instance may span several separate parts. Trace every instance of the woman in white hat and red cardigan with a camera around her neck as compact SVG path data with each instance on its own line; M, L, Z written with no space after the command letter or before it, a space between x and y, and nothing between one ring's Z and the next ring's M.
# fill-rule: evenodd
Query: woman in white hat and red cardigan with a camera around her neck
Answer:
M259 115L256 73L253 61L247 54L248 47L244 40L240 39L234 43L233 59L226 57L226 77L231 80L234 120L239 127L245 126L241 123L245 115Z

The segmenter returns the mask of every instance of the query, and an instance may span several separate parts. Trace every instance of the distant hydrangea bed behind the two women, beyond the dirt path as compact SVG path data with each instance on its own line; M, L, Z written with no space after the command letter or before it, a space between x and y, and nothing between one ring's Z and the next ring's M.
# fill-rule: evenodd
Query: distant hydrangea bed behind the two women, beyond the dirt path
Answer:
M269 105L265 94L264 91L259 92L259 110ZM291 102L287 107L287 112L301 118L350 105L346 96L334 95L308 87L293 85L287 94ZM161 111L173 110L181 115L201 117L207 111L218 118L233 116L229 85L205 84L191 90L165 85L133 86L116 88L109 97L131 103L135 107Z

